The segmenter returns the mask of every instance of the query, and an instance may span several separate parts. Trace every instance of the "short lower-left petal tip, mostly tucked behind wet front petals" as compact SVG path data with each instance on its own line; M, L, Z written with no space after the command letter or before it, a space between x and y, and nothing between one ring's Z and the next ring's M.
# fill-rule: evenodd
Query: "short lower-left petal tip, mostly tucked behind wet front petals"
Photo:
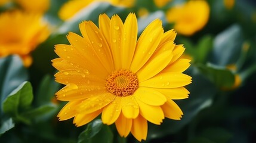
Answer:
M78 106L79 103L81 103L80 100L68 102L58 113L57 115L58 119L67 120L74 117L77 114L76 107Z

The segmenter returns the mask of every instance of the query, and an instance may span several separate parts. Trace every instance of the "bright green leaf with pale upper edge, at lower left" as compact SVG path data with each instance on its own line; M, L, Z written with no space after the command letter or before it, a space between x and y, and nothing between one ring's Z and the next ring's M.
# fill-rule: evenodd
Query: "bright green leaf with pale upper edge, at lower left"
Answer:
M14 89L3 102L4 113L17 116L19 110L26 110L33 100L32 86L30 82L23 82Z

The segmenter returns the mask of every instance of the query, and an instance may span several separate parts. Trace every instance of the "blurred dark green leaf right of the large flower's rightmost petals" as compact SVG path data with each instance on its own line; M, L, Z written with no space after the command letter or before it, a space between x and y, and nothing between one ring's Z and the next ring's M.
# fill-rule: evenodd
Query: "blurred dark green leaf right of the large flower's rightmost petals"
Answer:
M215 66L214 64L200 64L199 69L217 87L230 88L234 85L235 75L226 67Z

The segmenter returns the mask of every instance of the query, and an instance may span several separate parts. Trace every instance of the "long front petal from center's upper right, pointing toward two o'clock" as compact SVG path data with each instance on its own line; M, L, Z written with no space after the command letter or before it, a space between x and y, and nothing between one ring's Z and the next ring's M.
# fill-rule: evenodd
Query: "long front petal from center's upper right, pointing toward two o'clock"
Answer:
M171 57L171 50L166 50L159 54L157 53L156 57L152 56L152 58L150 58L150 60L138 71L138 80L143 82L158 74L169 64Z

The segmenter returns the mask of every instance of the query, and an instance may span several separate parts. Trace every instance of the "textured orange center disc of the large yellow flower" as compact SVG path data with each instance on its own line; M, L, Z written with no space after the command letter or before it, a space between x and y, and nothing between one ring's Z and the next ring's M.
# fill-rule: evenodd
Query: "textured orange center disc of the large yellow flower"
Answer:
M138 89L138 77L129 70L115 70L107 77L106 89L120 97L132 95Z

